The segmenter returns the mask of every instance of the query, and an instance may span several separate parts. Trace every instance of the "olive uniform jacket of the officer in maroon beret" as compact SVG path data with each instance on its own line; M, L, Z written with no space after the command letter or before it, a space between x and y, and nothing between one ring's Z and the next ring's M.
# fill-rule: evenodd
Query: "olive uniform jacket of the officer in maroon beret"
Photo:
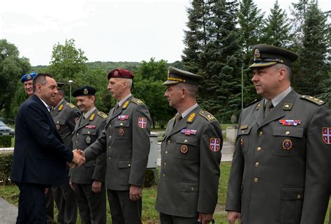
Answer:
M128 191L131 185L144 184L151 119L146 105L133 96L114 110L101 136L85 150L85 158L89 161L106 152L106 188Z

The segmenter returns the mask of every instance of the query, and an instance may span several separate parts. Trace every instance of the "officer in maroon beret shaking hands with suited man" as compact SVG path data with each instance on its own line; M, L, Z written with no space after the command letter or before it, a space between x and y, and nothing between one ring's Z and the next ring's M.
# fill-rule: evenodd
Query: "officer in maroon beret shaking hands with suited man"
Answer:
M151 119L142 100L131 94L133 73L116 68L108 74L108 89L117 105L109 112L101 137L85 149L87 160L107 151L106 187L112 223L141 223Z

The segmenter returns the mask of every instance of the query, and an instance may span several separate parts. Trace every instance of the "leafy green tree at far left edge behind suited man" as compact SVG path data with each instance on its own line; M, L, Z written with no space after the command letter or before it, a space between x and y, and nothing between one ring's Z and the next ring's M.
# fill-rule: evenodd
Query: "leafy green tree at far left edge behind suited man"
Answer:
M15 117L10 105L17 89L17 80L28 73L30 68L29 59L20 58L20 52L15 45L8 43L6 39L0 40L0 111L3 110L4 117Z

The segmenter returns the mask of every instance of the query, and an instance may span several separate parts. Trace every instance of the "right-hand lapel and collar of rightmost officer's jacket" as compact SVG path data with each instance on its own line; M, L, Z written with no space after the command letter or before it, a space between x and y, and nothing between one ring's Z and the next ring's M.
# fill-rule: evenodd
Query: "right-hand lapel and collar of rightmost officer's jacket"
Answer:
M274 107L274 109L271 110L269 112L269 114L267 114L267 117L265 117L265 119L263 119L260 126L265 126L266 124L269 124L270 122L272 122L276 119L284 117L285 116L284 104L286 104L286 103L293 104L295 101L296 95L297 94L295 93L294 90L290 91L290 93L283 100L281 100L281 102L279 102L279 104L276 107Z

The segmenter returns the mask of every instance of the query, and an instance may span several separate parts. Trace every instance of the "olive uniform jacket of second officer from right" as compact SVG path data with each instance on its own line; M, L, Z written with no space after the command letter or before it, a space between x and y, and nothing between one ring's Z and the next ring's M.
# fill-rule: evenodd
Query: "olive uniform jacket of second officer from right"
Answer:
M162 140L156 210L182 217L213 214L223 145L219 121L200 107L175 126L174 121L168 122Z

